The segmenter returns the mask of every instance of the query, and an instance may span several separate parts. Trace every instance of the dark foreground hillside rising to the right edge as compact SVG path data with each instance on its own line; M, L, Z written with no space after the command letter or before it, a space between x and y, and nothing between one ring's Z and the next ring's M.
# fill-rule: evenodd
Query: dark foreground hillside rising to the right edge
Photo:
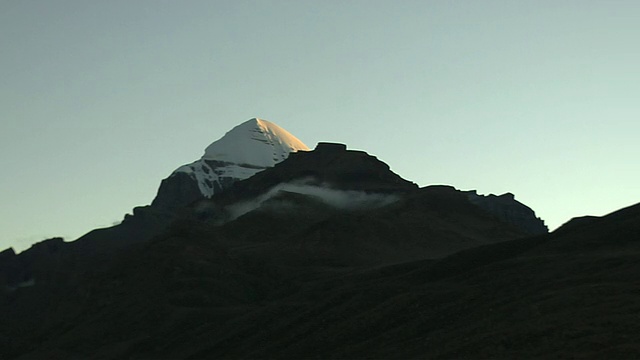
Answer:
M229 357L638 358L640 205L576 227L319 282ZM264 313L247 321L265 322ZM197 357L196 356L196 357Z

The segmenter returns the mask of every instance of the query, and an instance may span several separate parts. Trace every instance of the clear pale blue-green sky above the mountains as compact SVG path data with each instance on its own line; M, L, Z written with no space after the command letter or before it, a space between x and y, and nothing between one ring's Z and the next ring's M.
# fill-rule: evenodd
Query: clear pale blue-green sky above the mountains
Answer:
M252 117L553 230L640 202L636 0L0 0L0 249L70 241Z

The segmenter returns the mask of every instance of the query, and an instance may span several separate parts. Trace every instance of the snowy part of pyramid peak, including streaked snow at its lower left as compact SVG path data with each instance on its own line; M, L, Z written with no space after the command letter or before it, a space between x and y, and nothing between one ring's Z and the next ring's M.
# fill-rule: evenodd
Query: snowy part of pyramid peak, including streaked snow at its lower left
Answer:
M309 147L280 126L253 118L207 146L200 160L181 166L174 174L188 174L198 183L202 195L211 197L300 150L308 151Z

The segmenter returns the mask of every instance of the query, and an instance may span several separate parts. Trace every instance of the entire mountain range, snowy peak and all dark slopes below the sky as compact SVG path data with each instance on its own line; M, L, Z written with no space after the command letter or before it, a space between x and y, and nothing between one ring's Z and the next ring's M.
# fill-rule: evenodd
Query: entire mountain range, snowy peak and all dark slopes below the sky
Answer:
M0 358L638 357L639 230L254 118L121 224L1 252Z

